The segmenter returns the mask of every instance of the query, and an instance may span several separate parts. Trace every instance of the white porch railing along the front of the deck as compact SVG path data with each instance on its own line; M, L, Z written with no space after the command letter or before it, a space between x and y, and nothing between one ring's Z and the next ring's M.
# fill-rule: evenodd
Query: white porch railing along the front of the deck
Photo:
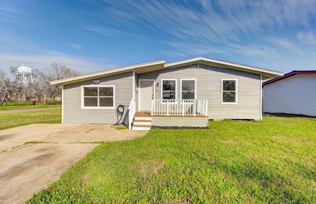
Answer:
M207 99L153 99L152 116L207 116Z

